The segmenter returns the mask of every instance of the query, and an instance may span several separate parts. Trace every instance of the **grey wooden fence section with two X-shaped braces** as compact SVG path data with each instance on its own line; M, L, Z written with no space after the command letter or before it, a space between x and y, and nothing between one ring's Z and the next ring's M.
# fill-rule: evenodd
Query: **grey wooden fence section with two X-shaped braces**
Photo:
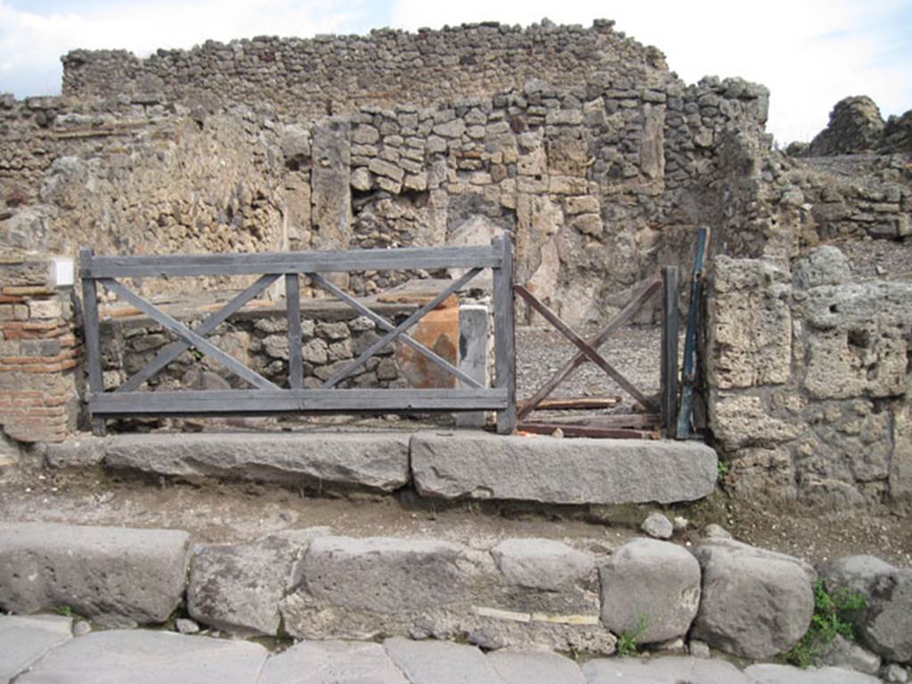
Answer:
M104 419L129 415L230 415L290 411L462 411L496 410L499 432L512 432L516 423L513 358L513 253L508 240L494 238L490 245L348 252L295 252L282 254L200 254L163 256L96 256L80 251L80 278L88 352L87 403L97 431ZM398 325L371 311L322 274L350 271L469 269L440 294ZM447 297L458 292L483 269L492 269L494 305L493 387L486 388L406 332ZM200 275L259 275L253 285L233 297L195 329L185 326L151 304L119 278ZM317 287L367 316L384 334L358 358L327 378L319 389L303 389L299 278L305 275ZM215 347L205 336L280 277L285 280L285 316L288 322L288 388L248 368ZM135 306L178 339L119 388L105 391L98 330L98 285ZM338 383L356 372L384 347L399 340L461 382L461 389L339 389ZM143 391L142 385L188 350L195 349L228 368L254 389L231 391Z

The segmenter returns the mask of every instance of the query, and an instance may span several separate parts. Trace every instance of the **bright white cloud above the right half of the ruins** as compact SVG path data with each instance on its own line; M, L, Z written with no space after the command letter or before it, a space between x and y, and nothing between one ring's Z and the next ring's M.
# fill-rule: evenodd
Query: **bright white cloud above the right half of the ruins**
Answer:
M585 26L594 18L614 19L617 30L663 50L669 67L688 82L712 74L768 86L769 129L777 140L789 141L813 137L833 105L849 95L870 95L885 113L912 107L912 56L880 64L888 41L873 28L903 5L897 0L397 0L392 16L395 26L411 29L482 20L524 26L544 16Z

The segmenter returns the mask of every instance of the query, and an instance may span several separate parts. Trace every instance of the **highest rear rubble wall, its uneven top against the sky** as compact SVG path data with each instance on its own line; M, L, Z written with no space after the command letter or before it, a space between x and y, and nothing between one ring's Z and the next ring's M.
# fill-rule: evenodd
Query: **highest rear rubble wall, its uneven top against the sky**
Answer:
M429 106L453 97L490 96L528 78L585 85L598 71L648 86L667 80L664 57L597 20L590 28L497 23L389 29L368 36L313 39L261 36L140 59L122 50L75 50L63 57L67 96L111 98L161 93L205 109L228 103L275 105L286 120L316 120L359 105Z

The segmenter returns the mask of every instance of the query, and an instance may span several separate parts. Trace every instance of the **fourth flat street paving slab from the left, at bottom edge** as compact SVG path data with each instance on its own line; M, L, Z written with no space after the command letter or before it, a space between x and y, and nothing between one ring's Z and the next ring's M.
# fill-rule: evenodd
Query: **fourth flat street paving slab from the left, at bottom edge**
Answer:
M384 641L383 648L410 684L504 684L482 651L472 646L394 637Z

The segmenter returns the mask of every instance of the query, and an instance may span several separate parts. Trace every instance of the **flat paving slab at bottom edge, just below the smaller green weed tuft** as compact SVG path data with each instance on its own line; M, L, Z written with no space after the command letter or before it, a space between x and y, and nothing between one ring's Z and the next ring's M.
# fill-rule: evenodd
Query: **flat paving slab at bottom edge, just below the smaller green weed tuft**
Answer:
M588 684L752 684L724 660L597 658L583 666Z

